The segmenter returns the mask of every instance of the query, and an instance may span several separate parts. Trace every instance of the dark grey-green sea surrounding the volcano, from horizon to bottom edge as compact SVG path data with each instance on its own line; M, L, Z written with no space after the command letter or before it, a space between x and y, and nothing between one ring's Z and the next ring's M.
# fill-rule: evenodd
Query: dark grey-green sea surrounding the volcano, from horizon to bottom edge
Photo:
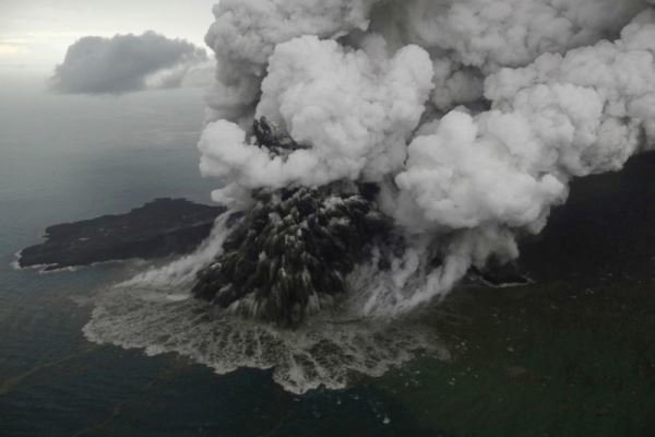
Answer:
M655 433L653 155L574 187L570 206L526 243L535 284L457 290L395 321L394 341L377 333L365 358L397 365L372 371L380 363L365 361L371 371L348 373L342 388L294 390L275 367L217 371L186 353L199 335L221 336L221 324L210 332L166 312L178 307L141 303L142 311L129 307L133 296L108 293L147 265L12 267L51 224L157 197L210 202L216 181L200 177L195 150L203 92L73 97L47 93L38 78L0 80L0 436ZM123 312L98 319L104 310ZM352 340L347 323L331 329ZM90 341L90 330L108 341ZM434 351L400 356L413 342Z

